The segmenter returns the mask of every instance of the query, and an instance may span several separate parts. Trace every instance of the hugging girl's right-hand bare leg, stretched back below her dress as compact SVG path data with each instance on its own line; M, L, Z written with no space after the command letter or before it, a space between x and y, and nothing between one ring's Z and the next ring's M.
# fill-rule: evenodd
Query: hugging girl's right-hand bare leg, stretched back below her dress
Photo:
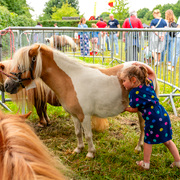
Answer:
M179 151L176 145L174 144L174 142L170 140L170 141L165 142L164 145L169 149L169 151L173 155L174 161L179 162L180 161Z

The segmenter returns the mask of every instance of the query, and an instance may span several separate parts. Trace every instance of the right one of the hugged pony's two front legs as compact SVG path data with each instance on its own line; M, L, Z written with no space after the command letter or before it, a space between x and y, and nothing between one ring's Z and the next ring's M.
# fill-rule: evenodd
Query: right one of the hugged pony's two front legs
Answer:
M94 153L96 152L96 149L94 147L92 139L91 116L85 116L82 122L82 126L84 129L86 141L88 143L88 153L86 157L94 158Z

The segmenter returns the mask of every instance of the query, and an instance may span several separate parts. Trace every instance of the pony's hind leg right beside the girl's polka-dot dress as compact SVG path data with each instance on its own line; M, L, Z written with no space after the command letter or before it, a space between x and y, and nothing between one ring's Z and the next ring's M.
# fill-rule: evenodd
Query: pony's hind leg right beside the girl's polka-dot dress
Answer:
M138 112L137 114L138 114L138 118L139 118L139 125L140 125L141 134L139 137L139 142L135 148L135 151L140 152L141 146L143 146L143 143L144 143L144 119L142 118L142 115L140 112Z

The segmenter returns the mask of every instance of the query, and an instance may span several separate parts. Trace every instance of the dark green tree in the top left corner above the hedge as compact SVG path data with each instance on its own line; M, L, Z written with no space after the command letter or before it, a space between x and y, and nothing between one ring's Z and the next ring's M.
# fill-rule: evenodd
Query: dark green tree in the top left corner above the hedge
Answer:
M1 0L0 5L7 7L10 12L14 12L18 15L26 15L29 18L32 17L29 12L31 8L26 3L26 0Z

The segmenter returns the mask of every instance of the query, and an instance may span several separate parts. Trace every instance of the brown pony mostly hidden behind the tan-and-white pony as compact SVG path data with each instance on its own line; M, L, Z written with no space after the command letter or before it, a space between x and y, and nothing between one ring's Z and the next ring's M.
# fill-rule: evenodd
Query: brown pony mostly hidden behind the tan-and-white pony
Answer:
M0 62L0 70L5 74L10 72L12 60ZM0 73L0 90L4 91L4 81L7 78L5 74ZM13 101L22 106L24 101L27 101L29 109L35 107L39 116L38 126L44 127L50 124L50 119L47 114L47 103L52 106L61 106L59 100L54 93L40 78L35 80L35 88L26 90L23 89L16 94L10 94ZM92 129L95 131L104 131L109 128L109 123L106 118L92 117Z

